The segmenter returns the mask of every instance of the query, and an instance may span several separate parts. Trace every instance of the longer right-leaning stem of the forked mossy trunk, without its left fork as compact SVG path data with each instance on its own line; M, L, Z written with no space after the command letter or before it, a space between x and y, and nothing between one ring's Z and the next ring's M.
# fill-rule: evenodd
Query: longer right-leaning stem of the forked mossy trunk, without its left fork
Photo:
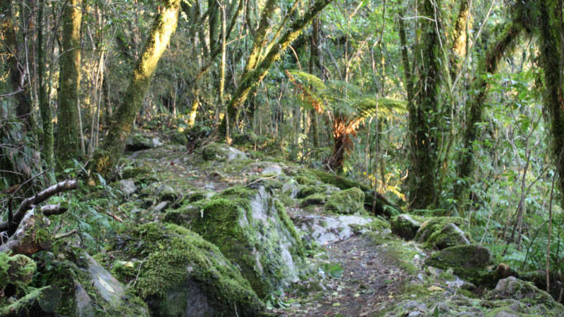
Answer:
M290 43L293 42L294 39L298 38L298 35L300 35L300 32L302 32L305 25L309 23L309 21L311 21L317 15L317 13L325 8L325 6L327 6L330 2L331 0L316 0L313 6L309 8L309 11L305 13L305 15L295 20L294 23L290 25L286 33L284 33L284 35L280 39L278 39L278 42L270 46L271 49L270 51L268 51L266 56L264 56L264 58L257 59L255 61L255 58L258 58L257 56L255 56L255 54L251 54L251 56L249 56L247 66L245 66L246 71L243 72L240 84L237 87L237 90L235 90L235 94L233 94L233 97L231 98L231 101L227 106L227 118L229 120L229 126L235 127L236 125L238 125L240 108L241 106L243 106L243 104L245 104L245 101L247 100L252 87L255 87L255 85L257 85L266 76L266 73L268 73L272 64L275 61L278 61L278 58L280 58L281 54L286 50L288 45L290 45ZM253 46L255 46L255 43L253 44ZM252 51L255 50L253 49ZM249 67L249 65L252 64L255 64L256 67ZM224 119L219 128L219 131L223 135L225 135L226 133L226 121L227 120Z

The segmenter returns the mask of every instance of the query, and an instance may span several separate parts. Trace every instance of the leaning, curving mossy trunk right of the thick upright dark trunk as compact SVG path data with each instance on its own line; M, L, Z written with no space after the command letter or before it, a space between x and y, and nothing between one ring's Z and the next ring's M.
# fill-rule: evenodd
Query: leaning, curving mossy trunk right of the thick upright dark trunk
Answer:
M474 174L474 151L473 144L476 141L479 130L478 125L482 120L482 113L484 112L484 103L486 101L488 83L484 77L484 73L496 73L498 64L503 54L513 48L515 40L523 30L522 25L517 22L509 23L505 27L505 31L494 43L486 56L479 63L477 73L472 80L472 91L477 92L466 104L467 115L464 125L464 132L462 135L462 150L458 154L457 176L458 182L454 185L454 196L464 209L469 201L469 179Z

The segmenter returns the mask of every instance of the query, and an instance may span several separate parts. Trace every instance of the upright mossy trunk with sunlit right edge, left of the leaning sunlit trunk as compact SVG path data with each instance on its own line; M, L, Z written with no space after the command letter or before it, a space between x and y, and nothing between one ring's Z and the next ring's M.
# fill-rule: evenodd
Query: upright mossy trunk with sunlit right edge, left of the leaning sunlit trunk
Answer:
M78 89L80 87L80 0L68 0L63 8L63 53L59 60L59 108L56 158L65 165L80 155Z

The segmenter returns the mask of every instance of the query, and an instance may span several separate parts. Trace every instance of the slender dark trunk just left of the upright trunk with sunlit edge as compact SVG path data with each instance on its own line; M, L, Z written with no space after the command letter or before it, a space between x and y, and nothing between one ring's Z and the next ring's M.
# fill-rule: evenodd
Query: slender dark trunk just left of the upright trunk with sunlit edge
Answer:
M45 49L43 39L43 11L45 1L39 1L39 13L37 15L37 63L39 78L39 113L41 113L43 125L43 157L47 166L53 163L53 122L51 121L51 107L49 106L49 95L47 94L47 83L45 82Z

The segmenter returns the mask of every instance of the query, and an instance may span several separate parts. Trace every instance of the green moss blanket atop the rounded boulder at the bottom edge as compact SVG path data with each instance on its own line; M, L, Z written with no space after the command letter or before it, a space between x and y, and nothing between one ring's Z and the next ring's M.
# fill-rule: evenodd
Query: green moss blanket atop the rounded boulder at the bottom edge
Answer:
M143 298L163 298L169 290L195 280L220 311L238 309L255 315L262 304L249 282L200 235L173 224L147 223L133 230L128 257L145 258L135 291Z

